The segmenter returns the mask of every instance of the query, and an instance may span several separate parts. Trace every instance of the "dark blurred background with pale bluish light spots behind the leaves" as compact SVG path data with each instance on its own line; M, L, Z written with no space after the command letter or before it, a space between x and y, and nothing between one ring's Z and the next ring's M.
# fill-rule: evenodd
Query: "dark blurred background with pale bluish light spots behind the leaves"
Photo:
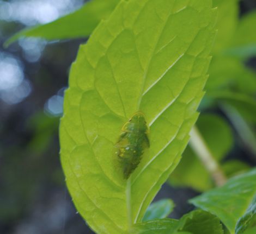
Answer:
M3 47L17 31L56 20L84 2L0 0L1 234L93 233L66 190L58 141L69 68L86 39L20 39ZM241 1L240 16L255 8L255 0ZM246 65L256 69L256 58ZM255 157L240 144L234 144L227 157L255 165ZM197 194L192 188L164 185L156 200L172 198L176 204L172 217L179 218L193 209L186 201Z

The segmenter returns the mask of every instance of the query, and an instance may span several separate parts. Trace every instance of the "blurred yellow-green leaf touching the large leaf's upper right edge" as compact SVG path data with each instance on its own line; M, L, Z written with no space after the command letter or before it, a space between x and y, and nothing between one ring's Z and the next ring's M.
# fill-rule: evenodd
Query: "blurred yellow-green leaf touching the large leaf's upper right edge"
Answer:
M217 37L214 43L213 53L218 54L227 48L237 27L239 18L239 5L237 0L214 0L214 7L218 8L218 29Z

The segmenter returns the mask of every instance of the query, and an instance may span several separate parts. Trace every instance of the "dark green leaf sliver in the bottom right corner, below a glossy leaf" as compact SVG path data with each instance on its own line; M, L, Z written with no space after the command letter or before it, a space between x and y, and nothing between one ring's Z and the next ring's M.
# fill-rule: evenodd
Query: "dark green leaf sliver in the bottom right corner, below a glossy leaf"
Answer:
M256 197L253 199L246 213L239 219L235 233L243 234L246 230L256 227Z

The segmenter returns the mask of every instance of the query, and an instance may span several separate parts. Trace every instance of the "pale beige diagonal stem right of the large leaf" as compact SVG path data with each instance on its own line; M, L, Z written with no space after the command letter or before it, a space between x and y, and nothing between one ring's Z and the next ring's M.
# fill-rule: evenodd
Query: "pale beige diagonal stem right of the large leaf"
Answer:
M202 135L196 126L194 126L190 132L190 146L199 157L199 159L203 162L205 168L209 171L214 179L215 184L217 186L222 186L227 181L220 165L217 160L212 156L208 146L206 145Z

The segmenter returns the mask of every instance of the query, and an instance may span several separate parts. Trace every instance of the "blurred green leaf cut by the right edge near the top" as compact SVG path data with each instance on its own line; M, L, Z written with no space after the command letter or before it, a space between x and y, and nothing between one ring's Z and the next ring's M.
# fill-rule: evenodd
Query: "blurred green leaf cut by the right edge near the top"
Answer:
M238 27L225 53L247 59L256 54L256 11L241 18Z

